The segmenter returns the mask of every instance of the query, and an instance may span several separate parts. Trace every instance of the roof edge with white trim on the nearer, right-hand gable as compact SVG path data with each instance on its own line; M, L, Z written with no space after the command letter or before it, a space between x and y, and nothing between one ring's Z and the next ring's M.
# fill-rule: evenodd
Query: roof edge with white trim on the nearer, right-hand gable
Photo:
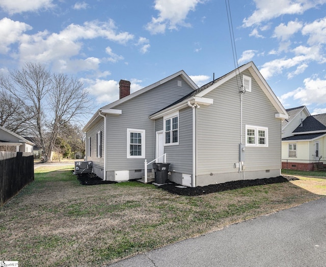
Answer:
M288 118L288 113L286 112L286 110L282 106L281 102L278 100L277 96L271 90L269 85L266 83L265 79L260 74L260 72L259 72L258 68L256 67L256 65L254 64L254 62L252 62L252 61L247 63L247 64L244 64L244 65L240 66L239 68L236 68L236 69L232 70L228 74L226 74L226 75L224 75L224 76L222 76L222 77L220 77L218 79L215 79L215 80L203 85L202 87L198 88L196 91L185 95L183 98L177 100L173 104L165 107L164 109L161 109L161 110L155 112L154 114L152 114L150 116L150 118L157 118L161 114L164 114L165 112L173 110L177 106L186 105L188 101L193 100L194 98L203 98L204 95L206 95L207 93L209 93L210 91L212 91L216 87L218 87L221 84L227 82L231 78L235 77L236 75L238 75L239 73L241 73L241 72L243 72L244 70L247 70L247 69L250 71L251 75L257 81L260 88L264 91L265 95L267 96L267 98L269 99L271 104L273 104L273 106L279 112L278 114L280 115L280 117L281 118Z

